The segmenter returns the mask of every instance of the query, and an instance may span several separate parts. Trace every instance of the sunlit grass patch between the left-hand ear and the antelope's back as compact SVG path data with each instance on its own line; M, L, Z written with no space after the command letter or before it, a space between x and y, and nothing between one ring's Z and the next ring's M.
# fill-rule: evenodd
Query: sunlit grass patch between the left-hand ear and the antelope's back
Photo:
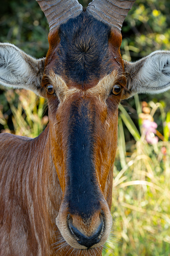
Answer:
M5 128L2 132L31 138L37 137L48 123L48 116L43 117L46 108L45 99L25 90L16 90L16 92L8 90L5 96L13 114L14 130L9 129L8 115L3 115L3 109L0 108L0 124ZM18 101L17 107L14 105L16 101Z

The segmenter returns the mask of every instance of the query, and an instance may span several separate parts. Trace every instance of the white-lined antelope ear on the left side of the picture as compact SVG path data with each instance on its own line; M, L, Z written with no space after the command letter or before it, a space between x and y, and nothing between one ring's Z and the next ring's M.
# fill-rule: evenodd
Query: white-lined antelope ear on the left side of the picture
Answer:
M41 87L45 58L35 59L13 44L0 43L0 83L3 86L32 90L45 97Z

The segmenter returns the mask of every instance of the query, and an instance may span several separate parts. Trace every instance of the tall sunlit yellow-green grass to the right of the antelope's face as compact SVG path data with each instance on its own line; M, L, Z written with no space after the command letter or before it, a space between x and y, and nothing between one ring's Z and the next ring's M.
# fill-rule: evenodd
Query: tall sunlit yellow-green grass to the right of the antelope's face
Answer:
M169 113L161 104L149 103L149 114L141 113L138 97L137 114L154 118L160 111L163 134L150 145L145 140L142 120L138 131L122 106L119 107L118 149L114 166L112 215L114 240L106 243L103 256L169 256L170 255L170 142ZM138 106L138 108L137 108ZM148 116L149 115L149 116ZM126 152L122 121L136 140ZM155 120L154 120L155 121ZM116 242L117 240L117 242ZM118 242L119 241L119 242Z

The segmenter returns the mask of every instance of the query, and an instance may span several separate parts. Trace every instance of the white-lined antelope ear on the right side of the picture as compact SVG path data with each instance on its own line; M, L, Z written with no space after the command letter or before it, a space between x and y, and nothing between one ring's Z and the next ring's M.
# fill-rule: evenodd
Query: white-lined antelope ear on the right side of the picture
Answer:
M159 94L170 89L170 51L155 51L136 62L124 61L127 90L122 99L134 94Z

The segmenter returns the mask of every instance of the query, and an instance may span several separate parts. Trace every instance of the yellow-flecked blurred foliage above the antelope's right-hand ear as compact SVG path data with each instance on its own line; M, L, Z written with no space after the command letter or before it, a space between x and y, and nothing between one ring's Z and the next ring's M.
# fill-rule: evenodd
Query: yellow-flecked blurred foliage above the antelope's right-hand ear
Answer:
M155 50L170 49L170 2L136 1L122 27L122 57L137 60Z

